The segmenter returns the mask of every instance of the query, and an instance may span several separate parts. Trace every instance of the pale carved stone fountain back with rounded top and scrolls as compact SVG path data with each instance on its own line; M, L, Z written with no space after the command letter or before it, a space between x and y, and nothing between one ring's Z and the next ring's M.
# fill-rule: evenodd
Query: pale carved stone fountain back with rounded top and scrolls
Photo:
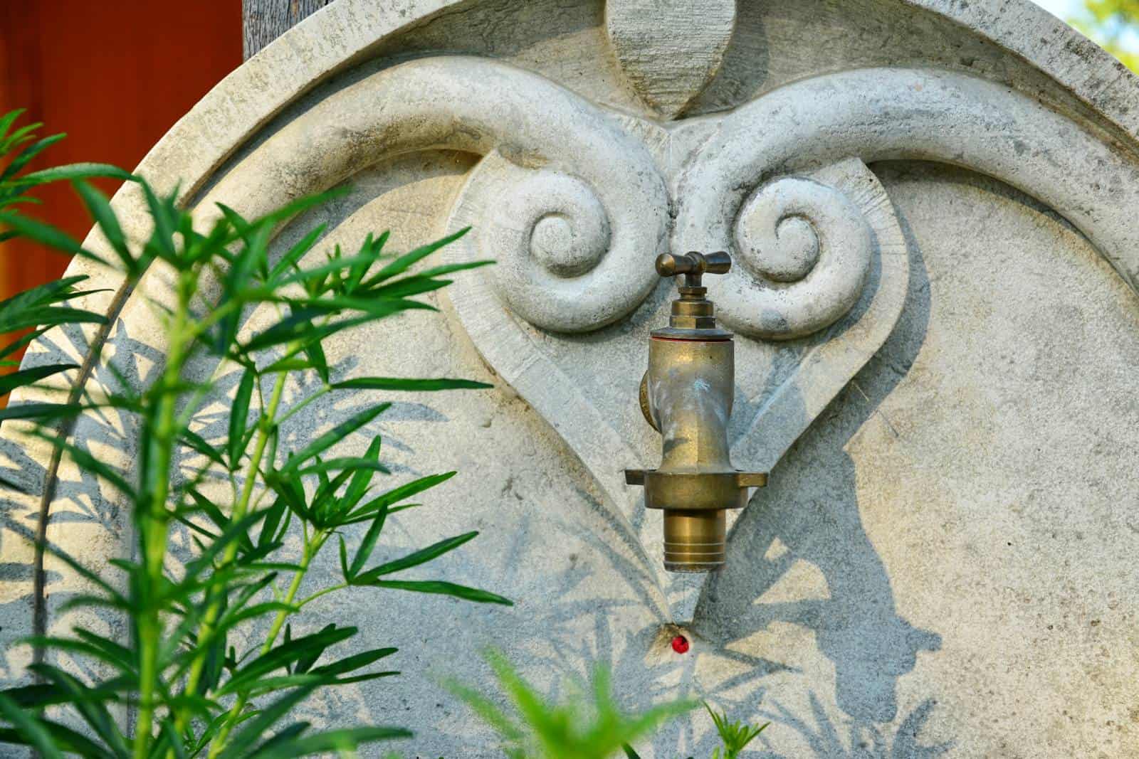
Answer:
M425 658L304 715L409 709L409 752L498 756L432 685L478 682L493 644L543 686L600 661L630 708L688 695L771 720L763 756L1130 756L1137 106L1139 80L1027 0L337 0L270 44L139 172L181 181L203 223L219 201L257 215L352 187L282 229L276 255L318 221L347 247L473 228L443 255L497 265L457 277L434 320L352 333L328 358L344 377L495 381L411 396L368 431L398 476L460 471L396 535L468 520L478 547L449 574L517 602L336 609ZM141 198L114 203L144 238ZM708 576L663 571L659 514L622 478L659 457L638 406L672 296L653 262L687 250L736 262L708 282L737 336L731 459L771 472ZM169 278L128 292L89 262L69 273L109 288L79 305L112 317L104 361L145 387L165 350L148 300ZM26 362L81 364L91 337L51 332ZM97 394L112 376L66 381ZM224 434L214 401L206 437ZM353 407L313 404L282 435L303 443ZM69 434L130 471L130 420ZM41 502L49 538L96 570L130 520L103 482L50 470L46 446L2 451L30 493L6 504L0 543L18 678L27 650L9 644L35 625L124 629L60 611L83 580L59 562L33 593L22 536ZM686 653L669 646L680 632ZM713 744L694 715L642 756Z

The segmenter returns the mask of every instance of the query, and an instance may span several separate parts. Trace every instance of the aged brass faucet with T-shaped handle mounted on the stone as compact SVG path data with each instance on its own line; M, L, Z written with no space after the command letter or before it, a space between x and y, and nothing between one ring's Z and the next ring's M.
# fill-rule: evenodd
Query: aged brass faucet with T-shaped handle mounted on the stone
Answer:
M767 485L765 472L731 465L728 420L736 379L735 344L716 327L715 307L700 278L726 274L727 253L665 253L661 277L683 274L669 325L653 330L640 406L661 432L661 465L626 469L629 485L645 487L645 506L664 510L664 567L704 572L724 561L724 511L747 505L748 488Z

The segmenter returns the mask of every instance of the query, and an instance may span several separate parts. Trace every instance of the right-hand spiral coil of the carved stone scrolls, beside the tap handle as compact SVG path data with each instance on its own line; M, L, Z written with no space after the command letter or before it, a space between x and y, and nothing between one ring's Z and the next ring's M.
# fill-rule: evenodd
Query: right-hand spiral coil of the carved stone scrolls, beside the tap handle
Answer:
M726 236L718 231L716 239ZM782 178L752 193L731 230L738 265L718 292L724 323L767 339L809 335L858 302L870 270L870 228L839 190Z

